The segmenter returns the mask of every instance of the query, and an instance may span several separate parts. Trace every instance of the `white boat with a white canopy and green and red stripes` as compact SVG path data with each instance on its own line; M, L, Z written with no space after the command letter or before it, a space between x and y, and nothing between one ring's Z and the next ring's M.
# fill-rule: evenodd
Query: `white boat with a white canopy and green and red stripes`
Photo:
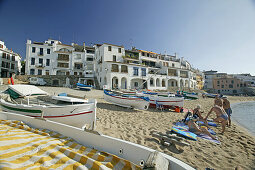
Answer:
M69 96L51 96L33 85L9 85L1 94L3 111L49 119L78 128L94 129L96 126L95 99Z

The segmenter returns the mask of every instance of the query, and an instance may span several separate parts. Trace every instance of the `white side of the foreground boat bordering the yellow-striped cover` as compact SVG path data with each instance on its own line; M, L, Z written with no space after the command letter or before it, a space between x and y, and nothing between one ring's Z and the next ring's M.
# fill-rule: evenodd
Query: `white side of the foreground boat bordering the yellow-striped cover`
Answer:
M145 161L147 161L149 156L153 152L155 152L155 150L142 145L124 141L107 135L89 133L87 131L83 131L81 129L53 121L43 121L20 114L4 112L0 112L0 119L23 121L25 124L29 125L32 128L47 128L64 136L68 136L83 146L114 154L120 158L129 160L137 165L140 165L142 162L144 163ZM192 168L191 166L172 156L166 155L164 153L160 154L169 162L168 169L194 170L194 168Z

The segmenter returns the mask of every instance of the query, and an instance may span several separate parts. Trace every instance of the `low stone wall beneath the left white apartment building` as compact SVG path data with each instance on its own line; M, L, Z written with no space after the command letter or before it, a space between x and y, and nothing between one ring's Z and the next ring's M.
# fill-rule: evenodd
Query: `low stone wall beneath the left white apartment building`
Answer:
M78 83L79 78L81 76L66 76L66 75L16 75L15 79L23 82L29 82L30 77L39 77L43 78L47 83L46 86L66 86L66 78L68 77L70 80L71 87L75 87L76 83Z

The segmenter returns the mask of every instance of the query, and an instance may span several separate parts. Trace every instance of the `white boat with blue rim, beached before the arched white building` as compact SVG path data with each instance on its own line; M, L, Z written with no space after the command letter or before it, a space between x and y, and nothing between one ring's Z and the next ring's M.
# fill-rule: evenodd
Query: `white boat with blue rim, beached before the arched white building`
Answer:
M123 95L111 90L104 89L104 99L112 104L135 108L140 110L147 110L149 107L149 99L143 96Z

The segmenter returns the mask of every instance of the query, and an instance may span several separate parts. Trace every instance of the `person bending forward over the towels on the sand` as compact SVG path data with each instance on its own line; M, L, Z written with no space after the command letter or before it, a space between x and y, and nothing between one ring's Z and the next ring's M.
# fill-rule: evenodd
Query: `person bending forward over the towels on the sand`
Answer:
M222 126L222 132L221 133L223 134L225 132L225 127L226 127L226 124L227 124L227 121L228 121L228 115L222 107L220 107L218 105L215 105L211 108L211 110L209 111L209 113L205 117L206 120L212 112L215 112L215 114L217 116L215 119L213 119L213 121L221 123L221 126Z

